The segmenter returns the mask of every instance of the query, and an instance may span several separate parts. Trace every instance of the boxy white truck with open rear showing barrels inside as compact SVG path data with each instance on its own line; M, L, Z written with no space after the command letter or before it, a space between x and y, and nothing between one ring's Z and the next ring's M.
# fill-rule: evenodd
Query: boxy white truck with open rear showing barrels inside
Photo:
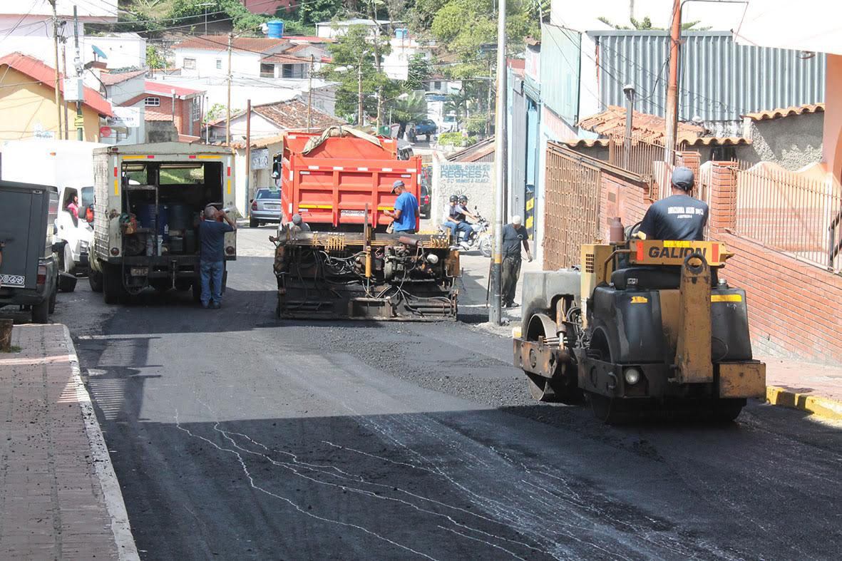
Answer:
M207 205L237 216L232 152L184 142L93 152L91 288L122 303L148 286L200 295L198 224ZM225 235L237 259L237 232ZM225 276L223 277L223 289Z

